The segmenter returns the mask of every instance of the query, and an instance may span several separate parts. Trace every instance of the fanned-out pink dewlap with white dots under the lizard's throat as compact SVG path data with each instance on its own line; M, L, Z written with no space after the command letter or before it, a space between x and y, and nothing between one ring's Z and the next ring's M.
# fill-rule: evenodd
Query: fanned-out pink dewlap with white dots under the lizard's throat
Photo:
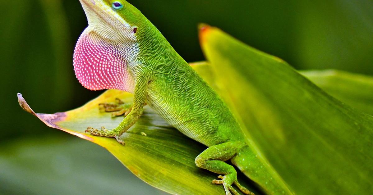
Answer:
M76 43L73 64L76 78L87 89L133 89L123 53L90 33Z

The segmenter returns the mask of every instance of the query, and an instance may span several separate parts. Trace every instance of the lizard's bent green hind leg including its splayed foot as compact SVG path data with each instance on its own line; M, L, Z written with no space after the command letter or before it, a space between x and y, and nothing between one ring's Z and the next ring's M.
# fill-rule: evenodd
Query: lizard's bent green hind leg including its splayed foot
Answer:
M232 187L233 184L236 185L243 193L254 195L254 193L250 192L248 189L238 183L235 168L224 162L236 155L240 145L242 144L239 142L225 142L222 144L213 145L195 158L195 164L198 167L224 175L218 176L218 178L221 180L214 179L212 182L216 184L223 184L226 195L231 195L232 193L239 195L239 193Z

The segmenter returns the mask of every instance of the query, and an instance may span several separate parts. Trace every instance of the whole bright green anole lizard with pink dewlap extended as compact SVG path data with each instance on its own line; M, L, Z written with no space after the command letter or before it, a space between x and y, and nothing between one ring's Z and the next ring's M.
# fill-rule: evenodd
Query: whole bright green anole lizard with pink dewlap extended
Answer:
M292 194L280 176L247 142L228 107L179 56L159 30L128 2L80 0L88 27L76 44L73 65L79 82L91 90L120 89L134 94L132 108L103 104L106 111L126 112L115 129L88 128L97 136L120 136L140 118L148 104L186 136L208 148L195 164L222 174L213 183L225 193L252 194L237 181L231 160L268 194ZM120 104L118 104L120 105ZM206 192L208 193L208 192Z

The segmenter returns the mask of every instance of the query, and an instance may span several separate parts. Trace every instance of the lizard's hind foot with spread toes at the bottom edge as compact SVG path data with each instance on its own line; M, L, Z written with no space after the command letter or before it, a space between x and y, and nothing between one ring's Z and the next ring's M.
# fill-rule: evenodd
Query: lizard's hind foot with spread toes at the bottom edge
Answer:
M233 177L229 174L225 176L219 175L217 177L220 180L214 179L212 182L215 184L223 184L226 195L232 195L232 193L234 195L239 195L239 193L232 187L232 184L236 185L239 188L239 190L241 190L241 192L243 192L244 194L254 195L253 192L250 192L244 186L241 186L241 184L238 183L236 177Z

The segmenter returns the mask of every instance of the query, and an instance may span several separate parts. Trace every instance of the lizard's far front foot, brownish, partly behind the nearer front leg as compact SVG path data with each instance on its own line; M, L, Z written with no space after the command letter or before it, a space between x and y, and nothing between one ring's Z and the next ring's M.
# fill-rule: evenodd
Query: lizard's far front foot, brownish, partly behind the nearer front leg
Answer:
M101 103L98 104L100 111L111 112L112 117L127 116L132 110L132 103L124 103L119 98L115 98L115 103Z

